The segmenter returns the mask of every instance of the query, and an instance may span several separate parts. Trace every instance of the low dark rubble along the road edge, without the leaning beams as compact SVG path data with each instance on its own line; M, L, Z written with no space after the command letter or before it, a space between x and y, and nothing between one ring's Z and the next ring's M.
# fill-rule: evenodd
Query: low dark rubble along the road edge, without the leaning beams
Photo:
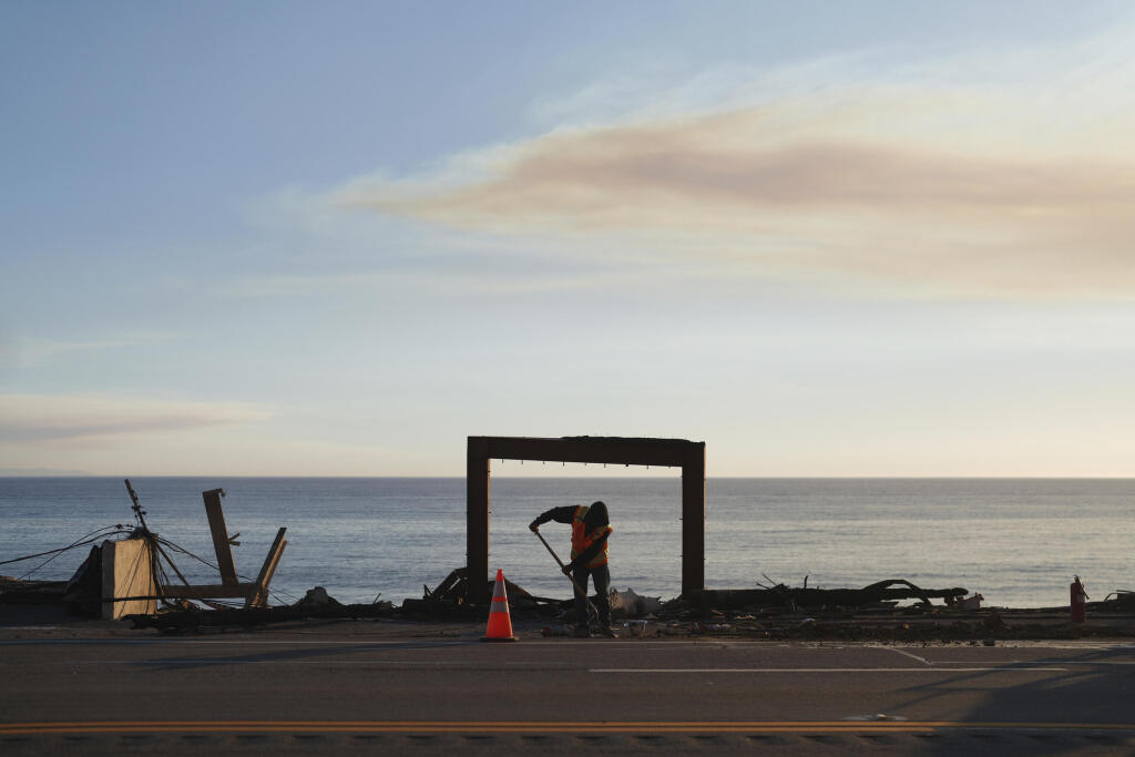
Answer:
M90 562L89 558L86 562ZM84 564L86 564L86 562ZM22 581L0 577L0 604L64 606L77 599L82 569L72 581ZM473 621L484 606L471 605L468 570L449 572L434 589L423 586L421 599L343 604L323 587L314 587L292 605L207 609L188 602L154 614L129 615L136 629L201 632L204 629L260 626L323 620ZM491 581L488 581L491 584ZM571 629L574 603L531 595L505 582L510 612L544 628L545 636ZM1087 603L1088 623L1071 623L1068 607L1039 609L983 608L983 597L964 588L923 589L902 579L878 581L861 589L790 588L782 583L743 590L704 590L663 602L633 589L611 592L612 619L630 638L721 636L768 640L922 641L995 644L998 640L1135 637L1135 592L1116 591L1103 602ZM915 604L902 606L903 599ZM932 599L941 599L934 604ZM210 603L212 604L212 603ZM548 620L553 624L546 624Z

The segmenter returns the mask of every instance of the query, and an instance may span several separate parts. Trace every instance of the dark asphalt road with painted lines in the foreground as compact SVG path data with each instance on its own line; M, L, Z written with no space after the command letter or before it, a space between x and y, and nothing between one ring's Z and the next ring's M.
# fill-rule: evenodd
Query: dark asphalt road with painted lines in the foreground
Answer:
M3 754L1135 750L1135 646L0 639Z

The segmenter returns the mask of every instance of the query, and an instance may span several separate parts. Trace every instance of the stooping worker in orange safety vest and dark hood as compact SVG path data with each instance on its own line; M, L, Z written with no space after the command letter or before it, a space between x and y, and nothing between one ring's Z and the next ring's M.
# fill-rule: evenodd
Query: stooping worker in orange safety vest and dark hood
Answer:
M529 523L536 532L541 523L571 523L571 562L564 565L564 575L575 580L575 636L588 638L587 578L595 581L596 605L599 611L598 634L614 637L611 630L611 571L607 569L607 537L611 520L602 502L591 505L553 507ZM581 592L582 590L582 592Z

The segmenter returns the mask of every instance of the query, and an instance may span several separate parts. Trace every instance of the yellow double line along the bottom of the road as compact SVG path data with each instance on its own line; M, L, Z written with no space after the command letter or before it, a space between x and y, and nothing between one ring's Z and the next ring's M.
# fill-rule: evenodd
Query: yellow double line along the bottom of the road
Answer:
M1135 731L1123 723L957 721L91 721L2 723L0 735L51 733L916 733L939 729Z

